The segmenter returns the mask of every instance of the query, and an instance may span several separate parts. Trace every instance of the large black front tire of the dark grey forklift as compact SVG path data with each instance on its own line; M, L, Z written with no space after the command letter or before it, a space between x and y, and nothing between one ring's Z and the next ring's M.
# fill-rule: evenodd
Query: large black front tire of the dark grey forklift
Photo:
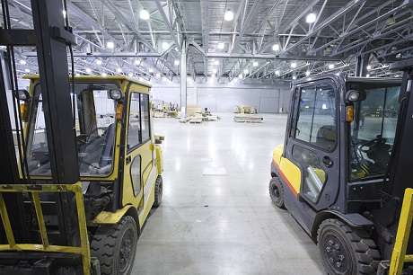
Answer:
M317 232L321 260L327 273L340 275L376 274L380 253L365 231L353 231L337 218L324 220Z

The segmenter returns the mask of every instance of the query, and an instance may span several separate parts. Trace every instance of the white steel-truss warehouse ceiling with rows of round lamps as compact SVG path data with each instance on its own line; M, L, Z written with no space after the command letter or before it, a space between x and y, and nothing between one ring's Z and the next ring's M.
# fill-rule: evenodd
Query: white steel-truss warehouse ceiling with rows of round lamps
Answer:
M32 29L31 2L8 3L13 28ZM412 58L412 7L413 0L67 0L67 16L78 41L76 74L180 79L186 50L194 79L278 83L355 75L365 54L368 75L397 76L389 64ZM26 61L17 64L21 74L37 72L35 49L16 54Z

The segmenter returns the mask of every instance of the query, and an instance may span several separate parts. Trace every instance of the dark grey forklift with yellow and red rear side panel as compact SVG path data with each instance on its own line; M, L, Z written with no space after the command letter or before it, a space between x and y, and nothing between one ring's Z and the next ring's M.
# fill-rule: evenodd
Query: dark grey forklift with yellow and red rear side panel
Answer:
M413 60L392 67L405 71L402 80L342 74L292 84L269 195L318 244L328 274L389 271L403 194L413 186ZM411 240L403 242L411 254Z

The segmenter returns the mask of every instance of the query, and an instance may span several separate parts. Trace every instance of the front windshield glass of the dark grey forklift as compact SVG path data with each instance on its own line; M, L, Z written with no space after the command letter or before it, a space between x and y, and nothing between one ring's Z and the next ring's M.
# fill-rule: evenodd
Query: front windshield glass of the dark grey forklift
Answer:
M390 160L399 115L400 84L364 88L351 122L351 179L382 177Z

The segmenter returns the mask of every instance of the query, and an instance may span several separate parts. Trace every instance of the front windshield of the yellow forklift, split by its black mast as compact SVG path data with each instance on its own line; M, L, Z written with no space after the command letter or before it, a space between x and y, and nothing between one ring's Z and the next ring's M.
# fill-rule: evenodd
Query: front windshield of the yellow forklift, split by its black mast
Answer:
M109 96L112 89L119 89L118 84L75 84L75 129L81 176L104 176L112 171L116 136L116 102ZM38 84L27 135L31 175L51 175L42 104Z

